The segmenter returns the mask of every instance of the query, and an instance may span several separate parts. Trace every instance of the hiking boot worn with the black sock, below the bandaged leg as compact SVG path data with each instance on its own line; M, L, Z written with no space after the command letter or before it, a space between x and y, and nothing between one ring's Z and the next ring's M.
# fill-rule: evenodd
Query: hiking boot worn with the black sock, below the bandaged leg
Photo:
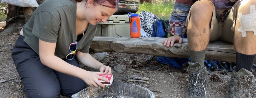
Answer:
M228 88L227 98L250 98L250 87L254 75L242 68L238 72L233 71Z

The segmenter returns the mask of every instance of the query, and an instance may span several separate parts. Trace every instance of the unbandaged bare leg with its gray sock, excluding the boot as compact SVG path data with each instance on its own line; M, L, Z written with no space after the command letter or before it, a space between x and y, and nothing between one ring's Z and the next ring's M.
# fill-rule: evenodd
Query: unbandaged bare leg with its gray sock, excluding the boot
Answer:
M202 10L204 9L204 10ZM190 18L187 26L188 46L191 50L192 62L198 62L203 68L205 48L209 43L210 23L213 5L211 2L197 1L190 9Z

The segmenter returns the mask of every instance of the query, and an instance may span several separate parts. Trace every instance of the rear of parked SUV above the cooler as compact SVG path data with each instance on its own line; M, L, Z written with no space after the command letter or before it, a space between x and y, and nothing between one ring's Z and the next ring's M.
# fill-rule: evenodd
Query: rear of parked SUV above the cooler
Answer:
M119 0L117 14L136 13L139 10L139 0Z

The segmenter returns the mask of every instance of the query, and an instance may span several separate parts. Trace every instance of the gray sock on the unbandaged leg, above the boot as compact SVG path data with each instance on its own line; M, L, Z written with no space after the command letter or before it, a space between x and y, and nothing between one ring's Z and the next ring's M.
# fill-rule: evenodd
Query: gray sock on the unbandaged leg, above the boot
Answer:
M204 67L204 57L205 57L205 50L202 50L202 51L190 50L191 62L200 63L202 68Z

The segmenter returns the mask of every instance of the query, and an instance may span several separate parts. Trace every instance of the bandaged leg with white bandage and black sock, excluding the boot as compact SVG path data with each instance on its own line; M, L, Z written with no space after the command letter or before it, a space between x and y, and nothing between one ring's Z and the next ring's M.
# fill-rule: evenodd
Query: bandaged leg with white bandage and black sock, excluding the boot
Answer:
M254 5L254 6L253 6ZM250 9L251 7L254 7L254 9ZM237 5L237 18L236 18L236 23L235 23L235 34L234 34L234 46L237 52L237 57L240 56L246 56L246 57L252 57L244 60L248 61L240 61L242 58L237 58L237 64L242 64L242 65L237 65L236 71L239 71L241 68L245 68L246 70L251 70L252 64L255 59L255 54L256 54L256 35L252 30L246 30L248 26L252 26L249 28L252 28L256 31L256 24L253 24L253 21L256 22L256 19L252 19L253 21L245 21L243 19L246 18L246 16L252 16L254 13L254 18L256 15L256 1L255 0L243 0L241 3ZM253 13L250 13L250 10L254 10ZM239 13L242 13L242 16L239 15ZM239 20L242 19L242 20ZM250 24L252 22L252 24ZM242 23L242 25L241 25ZM242 27L241 27L242 26ZM246 37L242 37L242 33L240 31L245 31Z

